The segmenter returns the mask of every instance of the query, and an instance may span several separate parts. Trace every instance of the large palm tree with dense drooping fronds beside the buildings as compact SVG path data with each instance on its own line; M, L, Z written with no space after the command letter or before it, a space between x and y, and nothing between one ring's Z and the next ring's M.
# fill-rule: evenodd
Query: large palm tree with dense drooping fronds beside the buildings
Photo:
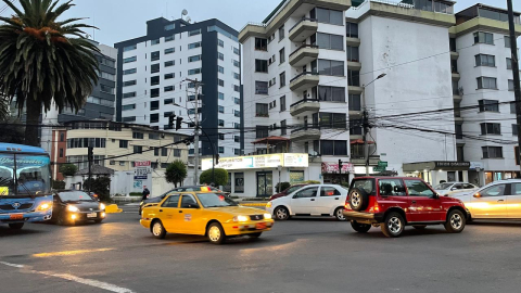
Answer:
M58 18L74 4L59 0L20 0L18 10L0 17L0 95L26 107L25 143L38 145L40 114L58 107L79 111L98 82L98 48L84 37L84 18Z

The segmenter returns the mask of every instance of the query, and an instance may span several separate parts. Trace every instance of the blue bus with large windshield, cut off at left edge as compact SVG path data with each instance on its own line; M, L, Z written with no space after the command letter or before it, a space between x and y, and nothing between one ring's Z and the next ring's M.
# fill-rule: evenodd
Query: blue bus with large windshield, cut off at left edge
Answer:
M52 216L51 160L43 149L0 142L0 224L22 229Z

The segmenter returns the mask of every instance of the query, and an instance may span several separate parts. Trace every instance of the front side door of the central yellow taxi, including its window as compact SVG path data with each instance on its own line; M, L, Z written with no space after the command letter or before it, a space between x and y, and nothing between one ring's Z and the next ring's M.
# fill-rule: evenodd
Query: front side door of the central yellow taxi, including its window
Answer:
M204 234L205 233L205 220L203 216L203 209L199 206L195 198L192 194L182 194L179 215L182 229L181 233L185 234Z

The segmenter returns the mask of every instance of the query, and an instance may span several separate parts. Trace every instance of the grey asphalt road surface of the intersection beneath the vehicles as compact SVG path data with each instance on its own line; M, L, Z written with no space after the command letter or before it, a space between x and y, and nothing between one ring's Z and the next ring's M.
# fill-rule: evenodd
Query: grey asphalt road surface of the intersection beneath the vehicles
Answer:
M132 207L134 208L134 207ZM126 212L131 212L125 208ZM0 226L0 292L519 292L521 224L408 228L398 239L330 219L276 222L216 246L152 238L136 213L101 225Z

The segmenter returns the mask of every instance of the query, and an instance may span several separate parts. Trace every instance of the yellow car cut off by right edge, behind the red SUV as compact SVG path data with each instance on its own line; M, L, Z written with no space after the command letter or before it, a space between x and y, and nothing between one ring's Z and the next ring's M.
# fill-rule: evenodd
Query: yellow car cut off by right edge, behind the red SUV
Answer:
M452 196L465 203L470 219L521 219L521 179L494 181Z

